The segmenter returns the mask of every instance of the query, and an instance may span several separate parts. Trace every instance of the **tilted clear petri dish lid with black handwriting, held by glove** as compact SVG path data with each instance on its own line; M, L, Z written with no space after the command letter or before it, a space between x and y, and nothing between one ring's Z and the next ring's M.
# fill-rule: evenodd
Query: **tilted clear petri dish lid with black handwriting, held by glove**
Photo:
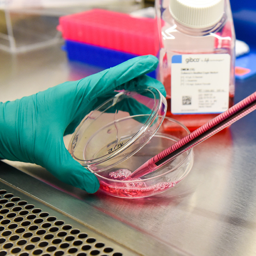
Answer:
M166 114L166 99L154 87L114 93L84 117L68 146L71 156L91 172L107 170L138 152Z

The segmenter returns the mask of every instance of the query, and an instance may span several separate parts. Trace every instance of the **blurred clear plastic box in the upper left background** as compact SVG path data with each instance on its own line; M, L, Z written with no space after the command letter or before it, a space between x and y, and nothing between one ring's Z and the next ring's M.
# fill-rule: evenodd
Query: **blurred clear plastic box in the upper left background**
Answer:
M58 14L40 8L0 10L0 50L28 52L62 42Z

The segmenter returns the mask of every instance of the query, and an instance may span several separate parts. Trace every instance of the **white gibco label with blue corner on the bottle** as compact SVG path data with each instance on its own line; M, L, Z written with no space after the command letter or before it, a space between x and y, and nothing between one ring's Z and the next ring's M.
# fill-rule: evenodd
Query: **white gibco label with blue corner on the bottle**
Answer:
M229 54L172 56L172 114L222 113L228 109Z

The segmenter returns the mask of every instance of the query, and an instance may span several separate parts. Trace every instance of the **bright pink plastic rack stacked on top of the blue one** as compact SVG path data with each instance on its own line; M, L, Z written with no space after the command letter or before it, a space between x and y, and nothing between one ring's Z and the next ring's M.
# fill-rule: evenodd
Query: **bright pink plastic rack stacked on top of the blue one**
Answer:
M103 9L60 17L64 39L137 55L157 54L156 20Z

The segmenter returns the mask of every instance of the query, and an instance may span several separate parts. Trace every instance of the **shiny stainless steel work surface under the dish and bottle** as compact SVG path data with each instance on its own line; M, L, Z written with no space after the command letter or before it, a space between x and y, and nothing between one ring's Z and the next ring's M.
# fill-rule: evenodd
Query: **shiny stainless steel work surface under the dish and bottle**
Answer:
M69 62L61 44L18 55L0 52L0 61L0 101L100 71ZM256 90L255 80L236 83L236 102ZM100 235L98 241L106 239L106 245L123 255L255 255L255 125L253 112L196 146L188 177L158 196L135 200L89 195L40 166L6 160L0 165L0 189L9 186L23 200L31 198L59 218L76 221L76 227ZM66 144L69 139L64 138Z

